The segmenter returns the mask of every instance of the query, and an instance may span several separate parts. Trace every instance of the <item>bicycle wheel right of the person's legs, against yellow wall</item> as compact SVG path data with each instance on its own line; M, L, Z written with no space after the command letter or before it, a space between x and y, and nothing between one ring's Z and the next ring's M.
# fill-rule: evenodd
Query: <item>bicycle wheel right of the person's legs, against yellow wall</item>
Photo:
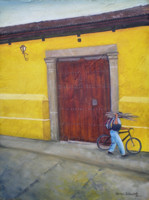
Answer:
M141 151L142 145L141 142L138 138L130 138L129 140L127 140L126 142L126 150L129 153L132 154L137 154Z

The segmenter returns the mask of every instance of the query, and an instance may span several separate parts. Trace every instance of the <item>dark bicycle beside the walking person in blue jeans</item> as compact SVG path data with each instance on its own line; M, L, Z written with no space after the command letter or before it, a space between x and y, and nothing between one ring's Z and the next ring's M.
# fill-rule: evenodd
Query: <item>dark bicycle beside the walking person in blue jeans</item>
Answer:
M128 133L126 137L122 139L122 141L124 141L128 137L130 137L125 144L126 151L131 154L137 154L141 151L142 144L138 138L131 136L130 131L132 130L134 131L133 128L128 128L128 130L119 131L119 134ZM111 145L111 136L103 134L97 138L97 146L99 149L108 150L110 145Z

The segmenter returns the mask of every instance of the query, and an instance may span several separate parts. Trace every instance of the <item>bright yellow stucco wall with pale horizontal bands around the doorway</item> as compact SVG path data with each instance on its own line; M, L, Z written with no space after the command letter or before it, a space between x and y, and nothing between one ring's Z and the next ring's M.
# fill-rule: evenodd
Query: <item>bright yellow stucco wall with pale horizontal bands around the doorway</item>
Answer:
M46 50L117 44L119 110L138 115L135 135L149 151L149 28L137 27L0 45L0 134L50 139ZM25 61L20 46L27 47Z

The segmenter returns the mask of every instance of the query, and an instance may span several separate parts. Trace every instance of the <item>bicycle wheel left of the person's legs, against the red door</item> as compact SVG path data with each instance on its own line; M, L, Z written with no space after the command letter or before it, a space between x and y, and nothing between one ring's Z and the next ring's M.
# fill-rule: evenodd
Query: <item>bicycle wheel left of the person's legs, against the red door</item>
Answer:
M108 150L111 145L111 137L109 135L101 135L97 138L97 146L101 150Z

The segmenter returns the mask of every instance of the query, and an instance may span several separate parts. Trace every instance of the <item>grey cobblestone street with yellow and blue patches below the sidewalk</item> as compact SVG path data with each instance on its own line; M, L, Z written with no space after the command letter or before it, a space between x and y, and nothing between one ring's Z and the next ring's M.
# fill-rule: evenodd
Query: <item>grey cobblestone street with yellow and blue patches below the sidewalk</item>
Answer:
M148 200L149 175L0 148L0 200Z

